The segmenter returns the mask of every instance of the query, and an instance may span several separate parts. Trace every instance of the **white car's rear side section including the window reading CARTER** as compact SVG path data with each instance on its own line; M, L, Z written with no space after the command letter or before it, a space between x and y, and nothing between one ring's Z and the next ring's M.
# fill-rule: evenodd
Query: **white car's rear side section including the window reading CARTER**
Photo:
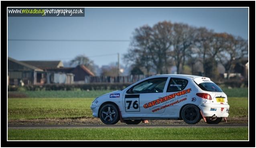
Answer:
M165 115L170 118L178 118L181 107L189 100L188 95L191 92L188 80L183 77L171 77L167 86L167 96Z

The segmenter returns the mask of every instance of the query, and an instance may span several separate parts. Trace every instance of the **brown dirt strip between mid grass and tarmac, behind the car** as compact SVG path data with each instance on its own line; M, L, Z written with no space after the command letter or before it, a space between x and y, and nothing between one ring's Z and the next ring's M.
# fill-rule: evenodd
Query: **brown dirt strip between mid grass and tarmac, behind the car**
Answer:
M223 119L218 125L237 125L248 124L248 117L232 117L227 118L226 123ZM149 123L140 123L138 125L189 125L183 120L148 120ZM8 120L8 125L105 125L101 122L100 118L94 117L80 117L80 118L46 118L46 119L26 119L26 120ZM122 122L118 122L116 125L127 125ZM209 125L201 119L201 121L195 125Z

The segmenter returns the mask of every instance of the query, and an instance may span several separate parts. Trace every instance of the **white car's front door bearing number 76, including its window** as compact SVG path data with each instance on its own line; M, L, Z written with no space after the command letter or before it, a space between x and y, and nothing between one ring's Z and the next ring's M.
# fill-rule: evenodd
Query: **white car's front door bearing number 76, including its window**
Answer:
M144 80L131 88L123 95L123 106L127 114L142 116L143 114L161 114L165 109L159 107L158 98L166 95L168 77L151 78Z

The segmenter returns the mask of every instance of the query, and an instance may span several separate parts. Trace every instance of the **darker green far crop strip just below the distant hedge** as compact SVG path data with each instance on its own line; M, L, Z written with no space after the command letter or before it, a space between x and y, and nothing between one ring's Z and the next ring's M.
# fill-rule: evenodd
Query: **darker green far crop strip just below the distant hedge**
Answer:
M222 88L228 97L248 97L248 88ZM22 96L27 98L95 98L114 90L90 90L90 91L20 91L8 92L8 98Z

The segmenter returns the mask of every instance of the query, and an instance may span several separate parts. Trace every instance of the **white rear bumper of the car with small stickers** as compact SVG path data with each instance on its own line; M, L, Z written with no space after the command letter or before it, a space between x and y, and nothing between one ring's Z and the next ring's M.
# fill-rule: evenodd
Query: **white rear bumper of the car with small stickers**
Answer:
M201 104L198 106L204 117L228 117L228 111L230 106L228 104Z

